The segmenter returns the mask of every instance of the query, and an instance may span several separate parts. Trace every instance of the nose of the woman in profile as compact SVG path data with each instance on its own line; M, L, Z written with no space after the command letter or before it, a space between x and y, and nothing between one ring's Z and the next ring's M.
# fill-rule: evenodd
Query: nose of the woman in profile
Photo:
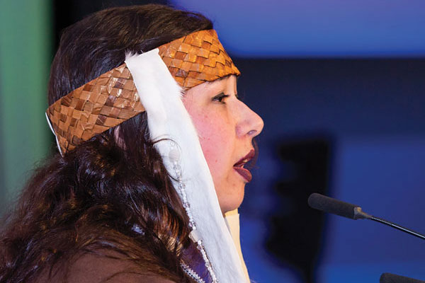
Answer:
M243 137L247 135L251 138L256 137L263 130L263 119L261 119L261 117L251 110L245 103L242 101L239 102L241 103L241 116L237 123L237 136Z

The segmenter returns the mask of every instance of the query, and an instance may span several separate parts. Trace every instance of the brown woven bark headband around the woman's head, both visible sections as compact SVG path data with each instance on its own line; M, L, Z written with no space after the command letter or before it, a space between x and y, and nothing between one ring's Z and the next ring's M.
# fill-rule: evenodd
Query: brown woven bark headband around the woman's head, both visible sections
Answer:
M171 75L184 88L240 72L225 52L215 30L201 30L158 47ZM140 103L126 64L80 86L47 108L61 154L83 141L134 117Z

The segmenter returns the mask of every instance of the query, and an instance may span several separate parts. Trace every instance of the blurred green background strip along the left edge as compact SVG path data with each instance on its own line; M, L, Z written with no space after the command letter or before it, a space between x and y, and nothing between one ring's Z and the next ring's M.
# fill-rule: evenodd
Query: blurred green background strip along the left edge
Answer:
M0 2L1 209L50 147L44 112L51 18L48 0Z

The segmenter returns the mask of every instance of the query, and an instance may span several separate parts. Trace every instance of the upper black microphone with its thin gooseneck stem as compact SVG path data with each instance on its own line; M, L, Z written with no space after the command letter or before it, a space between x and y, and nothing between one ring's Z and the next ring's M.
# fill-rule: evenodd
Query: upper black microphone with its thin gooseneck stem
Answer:
M377 221L379 223L385 224L387 226L391 226L392 228L398 229L400 231L409 233L410 235L416 236L418 238L421 238L425 240L425 236L421 235L420 233L417 233L415 231L412 231L410 229L404 228L402 226L399 226L395 223L392 223L390 221L380 219L376 216L367 214L361 210L361 207L359 207L356 204L349 204L348 202L341 202L341 200L335 200L331 197L327 197L324 195L320 195L316 192L310 195L308 197L308 205L314 209L318 209L322 212L328 212L331 214L336 214L339 216L344 216L349 219L370 219L373 221Z

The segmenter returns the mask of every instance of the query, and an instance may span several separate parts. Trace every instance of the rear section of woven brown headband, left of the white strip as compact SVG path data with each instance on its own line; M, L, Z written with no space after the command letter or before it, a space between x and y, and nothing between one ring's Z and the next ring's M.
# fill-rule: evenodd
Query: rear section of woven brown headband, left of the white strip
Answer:
M47 109L62 154L145 111L125 64L98 76Z

